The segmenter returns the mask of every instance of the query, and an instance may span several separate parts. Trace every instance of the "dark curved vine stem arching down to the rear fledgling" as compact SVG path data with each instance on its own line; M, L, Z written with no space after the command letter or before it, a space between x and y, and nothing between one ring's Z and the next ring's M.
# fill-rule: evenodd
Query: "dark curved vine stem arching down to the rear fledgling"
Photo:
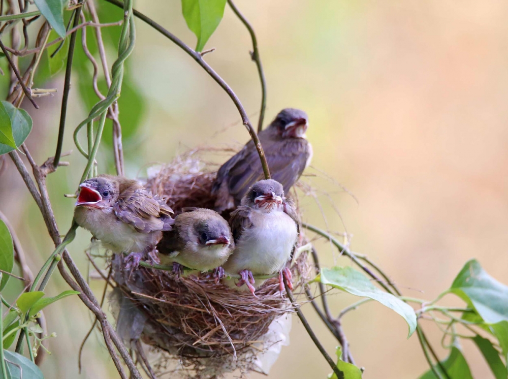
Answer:
M123 5L118 0L105 0L108 3L111 3L113 5L116 5L117 7L123 8ZM231 87L224 81L223 78L221 78L203 59L203 55L194 51L189 46L187 46L184 42L182 42L178 37L170 33L168 30L166 30L161 25L157 24L155 21L150 19L149 17L145 16L143 13L138 12L137 10L133 9L133 13L136 17L138 17L140 20L146 22L148 25L156 29L159 33L163 34L165 37L167 37L170 41L175 43L178 47L180 47L183 51L185 51L188 55L190 55L197 63L200 65L207 73L210 75L215 82L220 85L228 94L228 96L231 98L233 103L235 104L236 108L238 109L238 112L240 113L240 116L242 118L243 125L245 128L247 128L247 131L249 132L250 138L254 142L254 145L256 146L256 150L258 150L258 155L261 160L261 166L263 167L263 173L265 174L265 179L270 179L270 170L268 168L268 163L266 162L266 156L263 151L263 147L261 146L261 142L259 141L258 135L256 134L256 131L252 127L252 124L250 123L250 120L247 116L247 112L245 112L245 109L243 108L242 103L240 102L240 99L236 96L236 93L231 89Z

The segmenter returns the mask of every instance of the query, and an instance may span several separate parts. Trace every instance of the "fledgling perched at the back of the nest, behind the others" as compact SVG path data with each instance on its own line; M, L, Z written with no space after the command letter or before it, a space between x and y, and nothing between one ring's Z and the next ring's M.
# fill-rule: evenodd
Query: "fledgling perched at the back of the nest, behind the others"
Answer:
M312 146L305 138L307 128L307 114L287 108L258 135L271 176L282 184L285 193L289 193L312 158ZM218 170L212 187L212 194L217 197L215 210L222 213L238 206L249 188L263 177L258 151L251 140Z

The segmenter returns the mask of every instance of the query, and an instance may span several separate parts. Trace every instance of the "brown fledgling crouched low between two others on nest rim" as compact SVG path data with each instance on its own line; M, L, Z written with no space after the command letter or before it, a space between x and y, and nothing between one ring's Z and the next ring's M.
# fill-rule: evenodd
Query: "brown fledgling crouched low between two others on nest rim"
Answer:
M218 282L221 267L233 252L235 243L228 222L211 209L198 208L175 217L173 230L163 233L157 245L161 263L173 263L178 272L183 265L199 271L215 269Z

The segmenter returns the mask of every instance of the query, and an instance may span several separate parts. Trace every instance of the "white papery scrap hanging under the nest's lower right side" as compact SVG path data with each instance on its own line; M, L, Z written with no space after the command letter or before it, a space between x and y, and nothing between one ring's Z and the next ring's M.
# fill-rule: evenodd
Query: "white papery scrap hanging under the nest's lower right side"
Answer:
M284 313L273 320L268 327L268 332L262 337L263 345L260 348L264 352L257 355L254 364L267 375L279 357L282 346L289 346L289 333L292 325L291 315L291 313Z

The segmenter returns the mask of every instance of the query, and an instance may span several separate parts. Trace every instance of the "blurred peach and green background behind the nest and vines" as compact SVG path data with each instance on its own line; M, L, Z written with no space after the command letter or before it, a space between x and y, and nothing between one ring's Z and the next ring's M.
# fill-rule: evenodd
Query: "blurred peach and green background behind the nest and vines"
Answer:
M236 4L257 32L268 85L266 121L284 107L301 108L309 115L307 136L314 146L315 169L309 169L303 180L316 187L325 217L307 197L302 200L305 220L347 232L352 249L382 266L407 296L435 298L473 257L492 276L507 282L506 2L237 0ZM105 12L99 5L102 21L121 18L121 11ZM136 7L195 45L177 0L143 0ZM120 98L129 176L143 176L148 163L171 161L178 152L198 145L245 143L248 134L226 93L169 40L139 20L136 26L136 48ZM119 27L116 30L108 35L110 65ZM216 50L206 60L236 91L256 124L260 84L249 59L250 39L228 7L207 43L211 47ZM79 44L77 50L79 67L85 63L79 58ZM85 165L73 145L72 129L96 101L83 96L83 87L90 86L89 72L72 78L64 145L64 150L74 149L68 157L71 166L48 178L62 233L70 225L74 203L63 194L75 191ZM60 72L39 77L35 86L58 88L56 96L39 99L40 110L24 104L34 119L27 144L40 163L54 154L62 76ZM110 133L109 126L105 134ZM107 143L100 172L113 172ZM0 176L0 210L15 225L29 264L37 271L52 251L51 240L13 164L6 163ZM313 177L322 176L318 170L354 197ZM80 231L70 248L83 272L88 268L83 250L89 237ZM323 265L350 264L338 260L329 244L321 241L317 246ZM101 293L102 282L91 285ZM16 286L13 280L11 295L21 290ZM63 289L65 282L54 275L47 292L55 295ZM338 293L330 296L336 313L356 300ZM303 309L334 354L335 340L310 305ZM86 345L83 373L78 375L77 351L92 322L78 298L52 305L46 317L49 332L57 333L49 345L53 354L42 366L46 377L116 377L97 333ZM416 378L428 368L417 336L406 340L404 321L379 304L367 303L346 315L343 326L357 364L366 368L366 379ZM440 332L430 323L424 326L444 358ZM463 348L473 375L491 377L474 345L466 341ZM325 378L329 371L294 318L291 345L283 348L270 376Z

